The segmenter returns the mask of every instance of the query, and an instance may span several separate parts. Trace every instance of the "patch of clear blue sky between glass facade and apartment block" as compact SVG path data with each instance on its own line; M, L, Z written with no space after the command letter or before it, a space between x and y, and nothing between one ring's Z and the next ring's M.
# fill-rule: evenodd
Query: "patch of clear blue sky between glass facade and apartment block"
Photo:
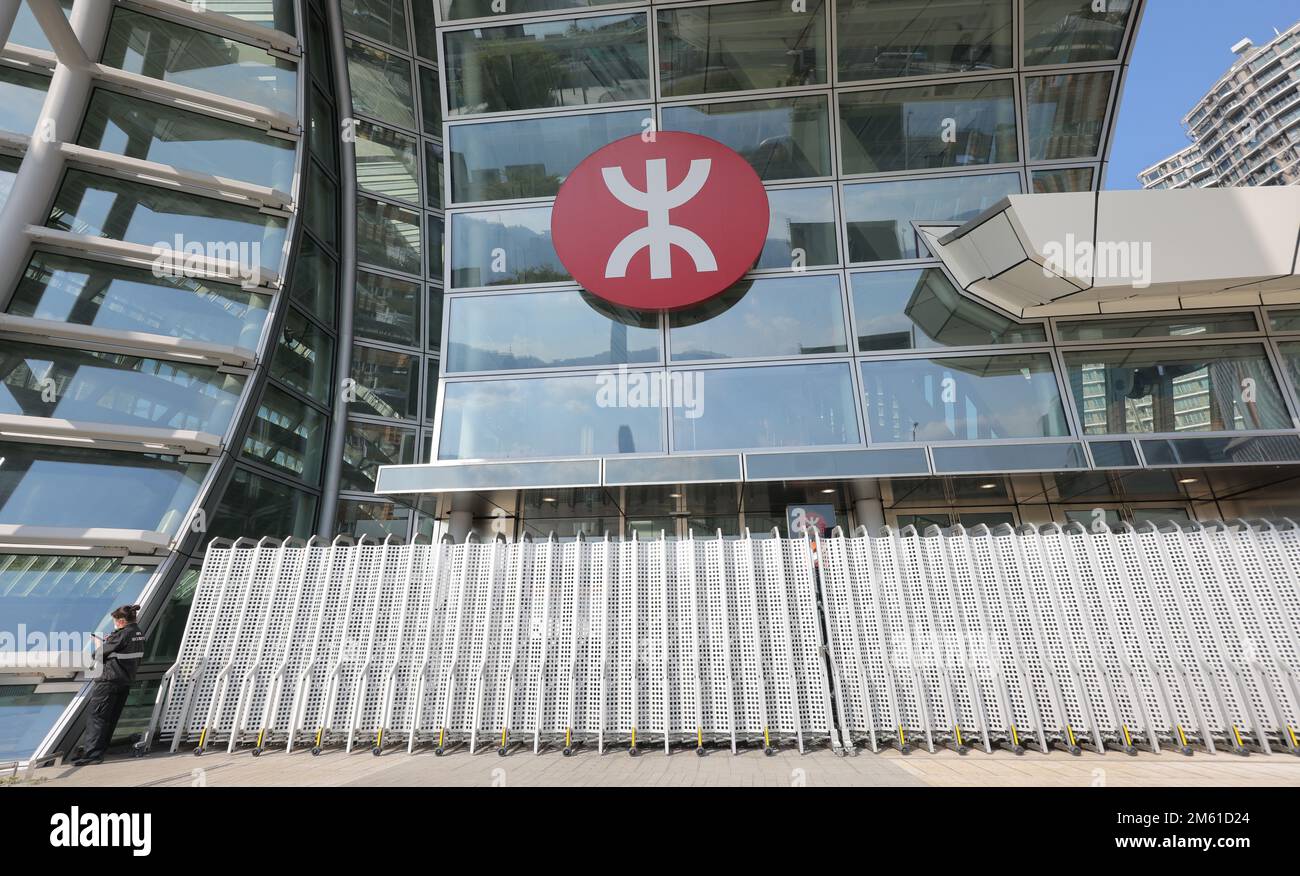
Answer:
M1300 18L1296 0L1148 0L1124 84L1106 188L1138 188L1138 172L1187 146L1183 116L1232 64Z

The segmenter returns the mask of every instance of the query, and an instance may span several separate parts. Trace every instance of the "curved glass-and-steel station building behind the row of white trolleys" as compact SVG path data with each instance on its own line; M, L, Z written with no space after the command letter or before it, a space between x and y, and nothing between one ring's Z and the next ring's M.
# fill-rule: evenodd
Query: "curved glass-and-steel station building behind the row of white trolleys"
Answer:
M75 738L122 603L143 725L213 538L1296 513L1275 455L1138 438L1294 438L1300 309L1024 317L920 229L1100 188L1141 5L23 0L0 762ZM770 221L720 295L634 311L551 211L656 131L741 156Z

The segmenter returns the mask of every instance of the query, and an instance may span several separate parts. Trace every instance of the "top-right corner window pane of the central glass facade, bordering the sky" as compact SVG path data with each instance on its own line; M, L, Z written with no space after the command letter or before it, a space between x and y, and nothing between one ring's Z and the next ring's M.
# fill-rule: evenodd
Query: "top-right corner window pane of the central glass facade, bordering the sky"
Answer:
M1124 42L1131 0L1108 0L1105 12L1079 0L1024 0L1024 62L1113 61Z

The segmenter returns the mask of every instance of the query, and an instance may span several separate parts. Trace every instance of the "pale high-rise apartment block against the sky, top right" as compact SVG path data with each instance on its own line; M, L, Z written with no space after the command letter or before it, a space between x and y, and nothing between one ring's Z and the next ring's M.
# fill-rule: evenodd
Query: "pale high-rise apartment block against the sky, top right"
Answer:
M1143 188L1300 182L1300 22L1236 60L1183 125L1192 144L1138 174Z

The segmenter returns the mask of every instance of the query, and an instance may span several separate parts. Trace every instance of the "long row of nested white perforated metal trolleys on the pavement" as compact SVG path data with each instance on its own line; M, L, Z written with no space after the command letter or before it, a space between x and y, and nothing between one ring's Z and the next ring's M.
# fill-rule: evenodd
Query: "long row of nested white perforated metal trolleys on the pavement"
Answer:
M213 542L172 750L1300 754L1300 529Z

